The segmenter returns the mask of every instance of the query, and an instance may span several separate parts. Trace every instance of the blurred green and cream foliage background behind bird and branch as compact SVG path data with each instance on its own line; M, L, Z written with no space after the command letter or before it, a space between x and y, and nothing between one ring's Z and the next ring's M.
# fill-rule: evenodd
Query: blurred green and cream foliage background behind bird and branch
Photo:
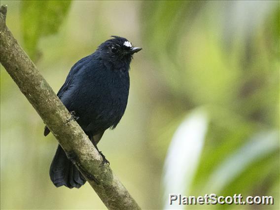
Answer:
M143 50L127 110L99 148L143 209L169 193L273 196L280 209L279 1L5 1L7 26L55 92L110 35ZM57 147L1 66L1 209L105 209L89 184L56 188Z

